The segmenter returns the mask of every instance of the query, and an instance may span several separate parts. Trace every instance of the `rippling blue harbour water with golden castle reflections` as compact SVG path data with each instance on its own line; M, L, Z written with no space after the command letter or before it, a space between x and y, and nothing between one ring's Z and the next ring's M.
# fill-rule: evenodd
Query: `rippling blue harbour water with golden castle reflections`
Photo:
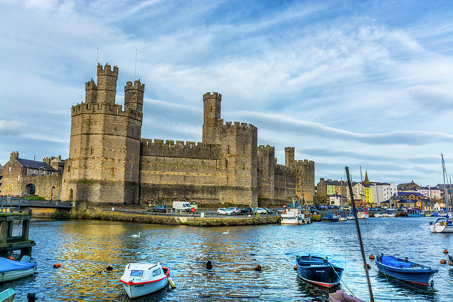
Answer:
M387 280L373 261L370 278L375 301L451 301L453 266L444 249L453 252L453 234L432 234L429 217L383 217L360 220L366 255L409 257L439 269L428 287ZM229 234L222 234L229 230ZM131 237L141 232L140 238ZM20 233L19 224L14 233ZM38 292L37 301L128 300L119 282L129 262L161 262L171 268L177 288L134 301L328 301L329 289L297 278L294 258L328 256L345 267L342 280L357 296L369 300L354 221L308 225L259 225L222 228L153 225L97 220L34 220L30 239L34 276L0 284L12 287L16 299ZM205 269L211 260L213 270ZM54 269L54 263L61 268ZM113 264L112 272L97 271ZM262 272L254 266L262 266ZM445 278L446 280L442 279ZM447 282L448 281L448 282Z

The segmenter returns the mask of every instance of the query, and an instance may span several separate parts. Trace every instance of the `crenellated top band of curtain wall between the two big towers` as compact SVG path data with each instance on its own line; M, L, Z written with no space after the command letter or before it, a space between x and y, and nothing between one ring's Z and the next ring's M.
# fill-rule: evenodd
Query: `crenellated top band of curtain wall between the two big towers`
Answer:
M140 156L164 156L194 159L219 159L220 145L194 141L142 138Z

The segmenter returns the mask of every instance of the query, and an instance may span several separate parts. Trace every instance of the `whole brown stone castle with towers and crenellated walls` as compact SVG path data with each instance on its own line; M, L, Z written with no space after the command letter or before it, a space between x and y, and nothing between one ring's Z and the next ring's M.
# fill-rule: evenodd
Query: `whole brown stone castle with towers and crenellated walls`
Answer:
M313 201L315 163L295 161L286 147L278 165L273 146L257 145L257 127L223 122L220 94L203 95L202 142L153 140L141 138L144 84L126 83L123 110L115 103L118 67L98 65L97 75L97 84L85 85L85 102L71 108L69 158L52 181L61 200L271 206L304 194ZM4 183L18 178L5 167Z

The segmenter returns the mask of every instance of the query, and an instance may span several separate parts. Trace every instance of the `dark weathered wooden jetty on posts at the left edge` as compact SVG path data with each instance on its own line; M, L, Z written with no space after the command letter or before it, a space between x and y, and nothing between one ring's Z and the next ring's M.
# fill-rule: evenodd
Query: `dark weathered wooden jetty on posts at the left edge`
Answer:
M0 212L0 257L8 258L17 250L21 251L21 257L31 256L31 249L36 245L28 239L31 216L30 213ZM22 221L21 236L13 236L14 221Z

